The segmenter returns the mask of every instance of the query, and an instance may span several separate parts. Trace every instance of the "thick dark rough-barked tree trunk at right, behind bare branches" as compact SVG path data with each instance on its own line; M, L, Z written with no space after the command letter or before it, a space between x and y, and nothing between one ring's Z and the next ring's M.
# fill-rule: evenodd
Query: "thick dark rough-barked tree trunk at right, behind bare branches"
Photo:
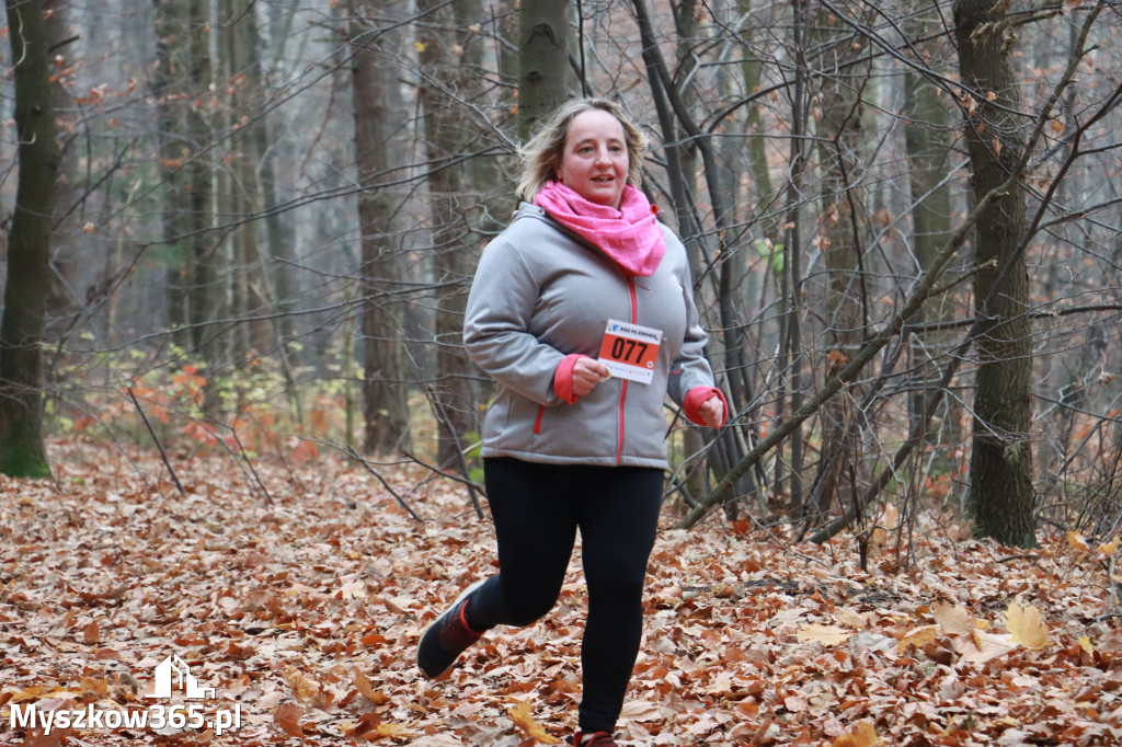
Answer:
M1004 8L991 0L955 2L962 80L974 91L966 140L975 199L1001 185L1023 151L1023 122L1011 113L1021 111L1020 82L1010 61L1015 36ZM976 229L975 257L982 269L974 293L976 313L986 326L976 342L968 506L978 535L1034 546L1029 278L1023 253L1018 252L1026 231L1024 200L1023 187L1013 186L986 209ZM1011 262L1003 287L995 288Z

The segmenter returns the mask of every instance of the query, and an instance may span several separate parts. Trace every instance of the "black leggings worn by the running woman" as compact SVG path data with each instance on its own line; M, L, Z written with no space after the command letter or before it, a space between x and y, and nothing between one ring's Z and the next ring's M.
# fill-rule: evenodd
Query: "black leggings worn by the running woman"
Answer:
M561 593L580 528L588 585L580 729L613 731L643 636L643 584L662 502L660 469L484 461L499 572L472 594L468 625L526 626Z

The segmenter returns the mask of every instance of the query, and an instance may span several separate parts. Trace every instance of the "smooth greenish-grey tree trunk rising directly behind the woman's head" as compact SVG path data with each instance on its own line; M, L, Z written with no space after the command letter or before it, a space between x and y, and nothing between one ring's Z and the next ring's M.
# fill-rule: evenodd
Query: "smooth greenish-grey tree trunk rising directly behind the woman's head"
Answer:
M569 67L571 0L522 0L518 6L518 138L576 90Z

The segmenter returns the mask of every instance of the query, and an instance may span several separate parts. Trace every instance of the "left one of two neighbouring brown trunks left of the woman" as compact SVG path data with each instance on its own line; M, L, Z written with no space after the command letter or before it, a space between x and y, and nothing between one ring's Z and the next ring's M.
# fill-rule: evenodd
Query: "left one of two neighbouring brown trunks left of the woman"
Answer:
M351 0L351 39L368 39L369 29L358 19L386 18L398 3L378 0L364 3ZM399 39L394 34L380 36L396 54ZM352 86L355 92L355 159L361 192L358 200L359 228L362 233L362 361L366 377L365 449L384 454L411 448L408 384L405 365L405 306L397 299L397 286L404 276L397 214L404 197L386 186L392 174L394 141L404 129L397 71L386 63L375 42L353 47Z

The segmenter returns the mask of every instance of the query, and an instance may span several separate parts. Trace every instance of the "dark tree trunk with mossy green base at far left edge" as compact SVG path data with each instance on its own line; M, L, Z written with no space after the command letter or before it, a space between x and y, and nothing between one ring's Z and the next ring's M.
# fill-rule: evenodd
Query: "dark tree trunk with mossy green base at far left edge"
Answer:
M8 0L15 62L19 182L8 234L0 320L0 472L50 477L43 443L40 342L50 292L50 224L58 149L42 2Z

